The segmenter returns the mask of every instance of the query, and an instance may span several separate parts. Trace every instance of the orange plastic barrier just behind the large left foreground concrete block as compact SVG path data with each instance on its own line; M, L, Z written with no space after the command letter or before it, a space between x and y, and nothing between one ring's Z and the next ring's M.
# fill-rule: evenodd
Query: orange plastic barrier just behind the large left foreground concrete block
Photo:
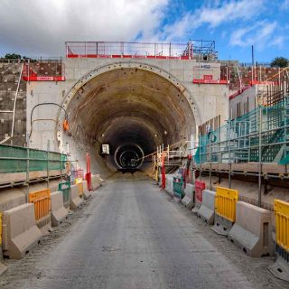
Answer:
M29 193L29 202L34 203L36 222L47 217L50 213L51 189L33 191Z

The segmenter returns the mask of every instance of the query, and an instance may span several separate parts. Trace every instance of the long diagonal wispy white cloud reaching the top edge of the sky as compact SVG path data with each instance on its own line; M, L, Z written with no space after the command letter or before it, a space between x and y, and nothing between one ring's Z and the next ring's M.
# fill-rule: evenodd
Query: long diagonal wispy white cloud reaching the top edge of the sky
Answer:
M203 24L209 24L210 28L215 28L222 23L244 21L260 14L264 2L265 0L233 0L222 3L210 1L208 5L184 14L175 23L167 25L163 35L167 40L180 39Z

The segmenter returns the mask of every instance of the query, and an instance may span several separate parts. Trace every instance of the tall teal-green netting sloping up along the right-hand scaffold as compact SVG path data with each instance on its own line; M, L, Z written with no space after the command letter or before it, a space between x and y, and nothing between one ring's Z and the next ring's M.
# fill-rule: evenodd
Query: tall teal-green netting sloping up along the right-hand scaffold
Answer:
M196 163L289 163L289 98L200 135ZM261 150L260 150L260 147Z

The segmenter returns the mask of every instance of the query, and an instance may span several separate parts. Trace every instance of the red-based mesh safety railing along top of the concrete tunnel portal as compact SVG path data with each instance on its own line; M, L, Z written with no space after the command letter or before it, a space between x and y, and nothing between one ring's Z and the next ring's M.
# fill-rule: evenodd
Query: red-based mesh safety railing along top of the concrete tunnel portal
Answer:
M191 60L193 42L66 42L67 58L152 58Z

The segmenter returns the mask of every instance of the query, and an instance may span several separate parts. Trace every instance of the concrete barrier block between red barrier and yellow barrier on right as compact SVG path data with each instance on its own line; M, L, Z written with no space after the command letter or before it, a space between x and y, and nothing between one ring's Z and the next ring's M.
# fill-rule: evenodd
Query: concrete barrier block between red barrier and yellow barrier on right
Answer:
M203 190L202 203L200 209L197 211L197 215L200 219L203 219L209 225L214 224L215 197L216 191Z

